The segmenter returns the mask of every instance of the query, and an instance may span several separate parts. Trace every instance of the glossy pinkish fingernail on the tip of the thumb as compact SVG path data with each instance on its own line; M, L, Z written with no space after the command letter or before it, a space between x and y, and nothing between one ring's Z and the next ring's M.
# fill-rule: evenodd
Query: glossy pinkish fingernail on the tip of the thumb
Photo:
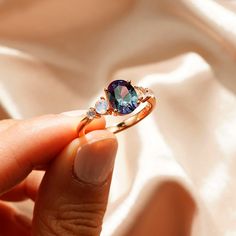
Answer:
M114 134L97 130L86 135L86 144L78 148L74 173L83 182L100 184L113 170L117 151Z

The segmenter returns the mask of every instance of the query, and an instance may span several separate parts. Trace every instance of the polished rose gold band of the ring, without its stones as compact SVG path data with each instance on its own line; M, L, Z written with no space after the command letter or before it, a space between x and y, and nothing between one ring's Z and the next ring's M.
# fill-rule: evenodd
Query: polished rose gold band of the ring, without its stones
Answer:
M136 87L136 89L138 89L140 91L143 91L142 88ZM140 99L140 103L143 104L143 108L141 110L139 110L137 113L133 112L134 114L131 113L131 116L126 118L124 121L122 121L122 122L120 122L120 123L118 123L114 126L106 127L106 129L109 130L110 132L116 134L116 133L119 133L119 132L121 132L121 131L137 124L139 121L144 119L147 115L149 115L152 112L155 105L156 105L156 98L150 92L150 90L148 90L148 91L149 91L148 95L146 95L144 98L142 97ZM88 116L86 116L81 120L81 122L78 126L78 129L77 129L79 137L85 135L86 127L88 126L88 124L90 122L93 121L93 119L96 119L96 117L91 119Z

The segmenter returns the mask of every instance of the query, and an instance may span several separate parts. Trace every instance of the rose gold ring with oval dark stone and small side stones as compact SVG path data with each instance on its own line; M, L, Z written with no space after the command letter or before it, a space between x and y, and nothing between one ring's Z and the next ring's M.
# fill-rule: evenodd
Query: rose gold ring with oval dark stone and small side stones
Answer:
M106 127L116 134L141 121L156 105L156 98L150 89L133 86L131 81L112 81L104 92L105 96L100 97L95 106L89 108L78 125L79 137L85 135L87 125L96 118L103 115L125 116L122 122Z

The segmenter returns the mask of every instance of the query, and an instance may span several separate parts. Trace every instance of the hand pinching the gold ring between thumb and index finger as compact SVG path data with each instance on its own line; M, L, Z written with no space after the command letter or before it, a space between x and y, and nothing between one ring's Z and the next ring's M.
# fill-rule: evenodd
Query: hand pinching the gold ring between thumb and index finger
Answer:
M100 235L117 141L97 130L104 120L77 139L80 119L60 114L0 122L1 235ZM42 182L39 168L46 170ZM33 220L7 202L28 198L35 201Z

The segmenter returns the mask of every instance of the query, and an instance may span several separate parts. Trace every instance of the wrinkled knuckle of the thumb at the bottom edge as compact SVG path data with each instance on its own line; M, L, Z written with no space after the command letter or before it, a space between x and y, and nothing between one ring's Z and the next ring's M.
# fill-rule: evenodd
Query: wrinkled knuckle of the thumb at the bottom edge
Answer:
M43 224L50 235L99 235L105 207L103 203L62 205L46 214Z

